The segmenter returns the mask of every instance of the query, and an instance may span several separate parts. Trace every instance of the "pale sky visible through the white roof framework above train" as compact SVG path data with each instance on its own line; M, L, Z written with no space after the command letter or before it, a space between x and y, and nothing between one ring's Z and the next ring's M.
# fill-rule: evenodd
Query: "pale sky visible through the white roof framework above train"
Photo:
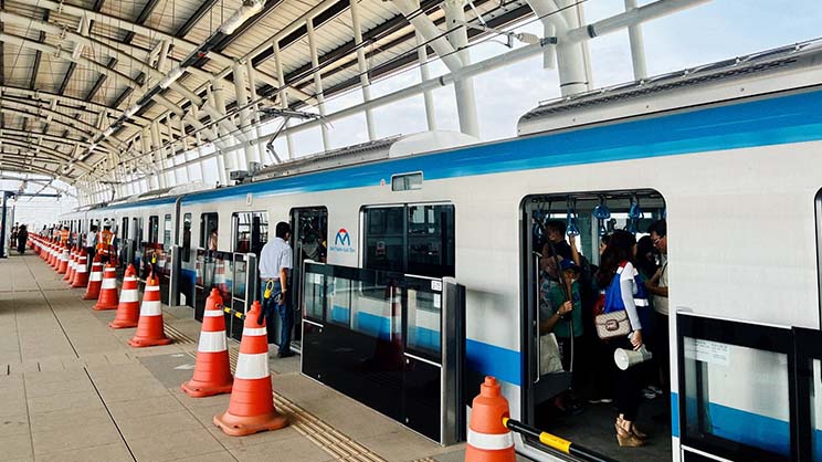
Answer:
M640 4L651 3L650 0ZM588 0L586 22L594 22L624 11L623 0ZM533 21L527 20L526 22ZM649 75L658 75L750 54L781 45L822 38L822 0L713 0L673 15L643 24ZM542 36L538 22L520 24L517 32ZM594 87L633 80L628 31L598 36L589 42ZM471 49L472 62L508 51L498 42ZM523 114L540 102L559 96L556 70L544 70L541 56L474 77L482 140L516 136L516 124ZM439 61L432 76L446 72ZM371 85L372 97L420 82L418 69L411 69ZM434 92L439 129L459 129L453 86ZM328 114L361 102L359 90L327 101ZM426 129L422 95L407 98L373 113L378 138ZM368 140L365 116L358 115L333 123L331 147L350 146ZM319 128L293 136L296 155L323 150ZM275 144L285 151L285 140Z

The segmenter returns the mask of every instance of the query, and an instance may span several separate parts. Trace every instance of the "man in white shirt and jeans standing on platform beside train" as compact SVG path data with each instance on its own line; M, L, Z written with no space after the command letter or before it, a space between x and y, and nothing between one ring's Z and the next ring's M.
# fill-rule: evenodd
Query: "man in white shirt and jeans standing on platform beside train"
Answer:
M291 307L291 271L293 267L293 252L288 245L291 239L291 225L284 221L277 223L275 238L263 245L260 252L260 279L262 280L263 311L260 313L259 324L263 317L268 319L276 309L281 321L280 353L277 357L287 358L294 356L291 350L292 328L294 326L294 312ZM268 296L266 296L266 294Z

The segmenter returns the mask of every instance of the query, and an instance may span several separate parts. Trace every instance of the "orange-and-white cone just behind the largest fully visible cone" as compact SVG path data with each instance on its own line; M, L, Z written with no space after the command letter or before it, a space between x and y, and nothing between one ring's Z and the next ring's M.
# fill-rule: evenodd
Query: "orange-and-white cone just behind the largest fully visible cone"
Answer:
M192 398L230 393L234 379L229 364L229 344L225 338L225 316L222 297L217 288L205 298L202 330L197 347L194 376L182 384L182 391Z

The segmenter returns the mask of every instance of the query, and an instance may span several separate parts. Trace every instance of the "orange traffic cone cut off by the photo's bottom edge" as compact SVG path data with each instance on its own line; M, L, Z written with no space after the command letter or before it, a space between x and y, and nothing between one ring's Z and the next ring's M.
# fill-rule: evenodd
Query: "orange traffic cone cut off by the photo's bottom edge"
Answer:
M514 438L503 426L504 417L508 417L508 400L496 379L485 377L471 406L465 462L516 462Z

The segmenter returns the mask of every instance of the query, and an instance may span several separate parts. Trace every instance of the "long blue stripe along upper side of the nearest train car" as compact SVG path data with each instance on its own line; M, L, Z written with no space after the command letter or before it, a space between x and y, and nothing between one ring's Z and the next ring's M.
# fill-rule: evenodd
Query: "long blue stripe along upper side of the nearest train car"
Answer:
M377 186L403 171L434 180L819 140L819 107L822 92L787 95L210 190L182 203Z

